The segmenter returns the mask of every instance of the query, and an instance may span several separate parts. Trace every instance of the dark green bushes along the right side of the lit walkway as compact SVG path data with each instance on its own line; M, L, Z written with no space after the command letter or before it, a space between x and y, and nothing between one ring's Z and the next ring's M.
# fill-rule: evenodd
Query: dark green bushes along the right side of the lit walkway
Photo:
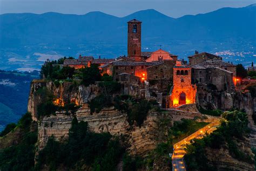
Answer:
M187 154L185 155L187 170L215 170L207 164L206 147L227 148L233 158L247 163L253 162L252 156L242 152L236 143L236 141L244 140L244 136L248 135L246 113L241 111L224 112L223 117L226 121L222 122L217 130L203 139L194 140L193 143L187 145Z

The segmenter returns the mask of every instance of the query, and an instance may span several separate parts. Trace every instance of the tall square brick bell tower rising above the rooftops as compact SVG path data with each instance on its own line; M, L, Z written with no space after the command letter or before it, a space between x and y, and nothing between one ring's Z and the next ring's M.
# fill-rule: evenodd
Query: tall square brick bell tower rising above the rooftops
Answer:
M128 23L128 57L135 61L142 60L142 22L132 19Z

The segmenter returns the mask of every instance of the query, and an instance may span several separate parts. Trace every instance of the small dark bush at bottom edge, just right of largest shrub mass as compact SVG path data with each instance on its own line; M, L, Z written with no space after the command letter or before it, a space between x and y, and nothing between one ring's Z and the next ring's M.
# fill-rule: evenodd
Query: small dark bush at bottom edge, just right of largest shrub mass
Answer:
M124 171L136 171L143 165L143 159L140 156L131 156L125 153L123 156L123 170Z

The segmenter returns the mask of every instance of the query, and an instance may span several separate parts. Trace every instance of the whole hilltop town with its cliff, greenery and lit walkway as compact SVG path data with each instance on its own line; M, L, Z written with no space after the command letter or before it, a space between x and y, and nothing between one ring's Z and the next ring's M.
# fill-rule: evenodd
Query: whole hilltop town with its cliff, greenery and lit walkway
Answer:
M253 63L247 77L207 52L142 52L142 22L127 27L127 56L45 61L0 170L255 169Z

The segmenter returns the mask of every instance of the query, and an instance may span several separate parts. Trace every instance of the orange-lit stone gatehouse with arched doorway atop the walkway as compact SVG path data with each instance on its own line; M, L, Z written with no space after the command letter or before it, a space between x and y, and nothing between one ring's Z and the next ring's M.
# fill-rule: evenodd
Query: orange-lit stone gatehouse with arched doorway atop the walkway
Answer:
M197 86L191 84L191 67L177 64L173 67L173 86L169 96L169 107L176 107L196 102Z

